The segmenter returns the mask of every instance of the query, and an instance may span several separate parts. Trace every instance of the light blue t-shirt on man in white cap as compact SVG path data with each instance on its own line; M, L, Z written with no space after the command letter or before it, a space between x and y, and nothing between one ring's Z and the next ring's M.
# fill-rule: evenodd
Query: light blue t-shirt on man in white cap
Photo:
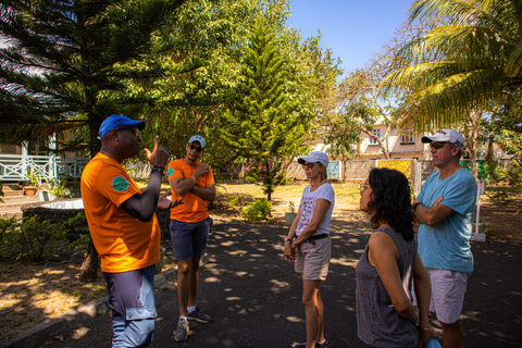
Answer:
M419 227L419 256L426 268L473 272L470 237L476 200L476 182L465 169L440 179L440 172L430 175L417 197L424 207L444 196L440 204L453 212L438 224Z

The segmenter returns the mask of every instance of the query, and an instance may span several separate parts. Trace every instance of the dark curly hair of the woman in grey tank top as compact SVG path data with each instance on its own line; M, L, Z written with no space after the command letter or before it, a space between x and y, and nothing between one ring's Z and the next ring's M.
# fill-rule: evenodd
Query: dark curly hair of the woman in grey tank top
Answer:
M372 188L369 213L374 228L380 221L388 223L405 240L413 239L413 211L411 189L405 174L390 169L374 167L370 172L369 184Z

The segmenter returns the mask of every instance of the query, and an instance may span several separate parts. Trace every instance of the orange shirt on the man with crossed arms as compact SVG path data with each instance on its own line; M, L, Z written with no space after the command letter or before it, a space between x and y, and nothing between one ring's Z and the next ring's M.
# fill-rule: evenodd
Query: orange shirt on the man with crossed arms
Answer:
M187 178L191 176L201 162L196 162L196 165L188 165L183 159L174 160L169 163L169 183L174 177ZM214 185L214 176L212 175L212 170L208 173L201 175L196 185L200 187L206 187L207 185ZM182 198L185 203L177 206L176 208L171 209L171 219L183 221L183 222L201 222L204 219L209 217L209 210L207 208L207 201L201 197L194 195L188 191L183 196L177 196L174 190L172 190L172 200Z

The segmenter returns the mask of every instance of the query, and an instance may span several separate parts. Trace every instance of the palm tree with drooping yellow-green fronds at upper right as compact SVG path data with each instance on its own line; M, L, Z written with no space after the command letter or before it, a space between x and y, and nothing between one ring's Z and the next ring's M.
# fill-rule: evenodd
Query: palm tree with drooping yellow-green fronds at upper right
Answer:
M401 123L418 132L464 130L459 125L474 123L463 132L474 163L481 115L521 97L521 14L520 0L414 1L410 22L435 17L444 24L403 45L401 65L382 84L385 95L407 96L398 109Z

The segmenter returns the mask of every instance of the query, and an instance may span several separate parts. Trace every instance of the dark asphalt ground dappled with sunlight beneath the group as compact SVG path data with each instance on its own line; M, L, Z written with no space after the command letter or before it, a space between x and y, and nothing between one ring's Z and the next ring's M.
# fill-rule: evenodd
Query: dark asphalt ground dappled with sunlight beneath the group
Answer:
M157 289L152 347L291 347L306 340L301 281L282 259L286 228L214 225L202 266L198 304L213 318L191 322L189 338L174 340L177 294L174 279ZM363 347L357 338L357 263L370 232L355 226L333 234L330 274L321 286L330 347ZM522 346L521 245L473 243L475 271L462 313L467 347ZM174 273L175 274L175 273ZM66 325L40 347L110 347L110 314ZM72 326L72 327L71 327Z

